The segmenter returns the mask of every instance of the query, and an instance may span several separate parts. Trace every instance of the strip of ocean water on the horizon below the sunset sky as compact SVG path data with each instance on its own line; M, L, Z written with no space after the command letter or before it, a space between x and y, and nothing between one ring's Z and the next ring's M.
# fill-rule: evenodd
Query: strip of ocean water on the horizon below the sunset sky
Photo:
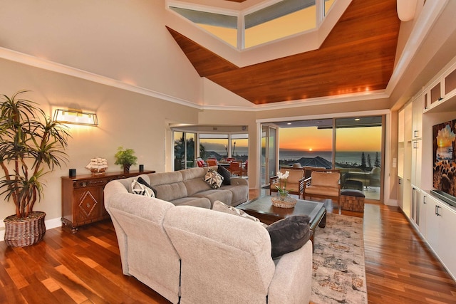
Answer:
M336 152L336 162L346 163L346 164L361 164L361 155L363 151L343 151ZM366 162L368 161L368 155L371 156L371 164L375 163L375 154L378 153L378 161L381 162L381 154L376 151L364 151L364 157L366 157ZM281 150L279 152L280 160L298 160L301 157L322 157L328 162L332 161L332 152L331 151L299 151L299 150Z

